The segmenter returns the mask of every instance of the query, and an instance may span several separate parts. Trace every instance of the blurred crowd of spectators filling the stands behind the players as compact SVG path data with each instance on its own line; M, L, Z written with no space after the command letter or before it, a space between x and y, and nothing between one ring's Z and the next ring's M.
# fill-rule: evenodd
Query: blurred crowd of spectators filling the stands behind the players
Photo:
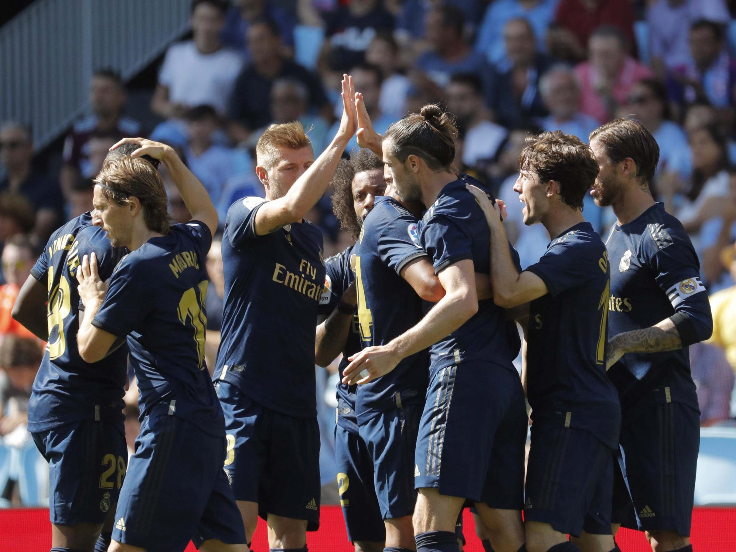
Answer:
M729 5L730 4L730 5ZM43 343L13 321L18 288L52 230L91 209L91 179L110 146L148 135L174 146L207 188L221 223L239 197L263 197L255 144L272 123L301 121L315 157L342 112L340 80L354 77L375 130L428 102L442 102L461 132L456 167L495 189L509 206L509 238L523 266L549 236L525 227L517 159L528 133L557 130L587 142L616 116L637 118L657 139L652 185L690 234L712 298L713 335L690 347L701 422L736 414L736 26L726 0L196 0L192 36L171 44L158 70L147 120L126 115L125 83L99 68L89 114L68 130L60 174L36 168L24 121L0 125L0 436L27 439L24 409ZM138 110L140 111L140 110ZM355 138L346 151L354 147ZM167 183L171 216L189 219ZM350 238L330 191L309 213L325 257ZM606 239L610 208L588 197L584 217ZM222 322L219 241L208 257L207 361ZM625 308L625 305L622 307ZM323 483L333 485L334 363L318 369L324 396ZM126 396L129 446L138 431L136 388ZM330 423L332 425L330 425ZM0 501L10 499L0 481Z

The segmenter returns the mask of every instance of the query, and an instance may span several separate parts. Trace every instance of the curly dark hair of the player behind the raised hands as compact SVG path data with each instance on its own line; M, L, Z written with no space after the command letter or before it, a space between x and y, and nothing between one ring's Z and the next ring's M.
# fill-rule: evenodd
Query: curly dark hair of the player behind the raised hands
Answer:
M358 239L363 221L355 214L353 205L353 178L355 174L373 169L383 170L383 161L369 149L359 149L350 156L350 160L341 159L332 177L332 210L340 227L353 239Z

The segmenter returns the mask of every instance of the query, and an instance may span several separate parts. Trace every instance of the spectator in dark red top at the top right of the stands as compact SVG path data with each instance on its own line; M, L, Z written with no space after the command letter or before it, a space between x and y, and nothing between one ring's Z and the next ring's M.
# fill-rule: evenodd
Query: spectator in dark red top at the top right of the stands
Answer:
M560 0L547 36L551 55L565 61L586 59L593 32L601 25L619 29L622 40L634 44L631 0Z

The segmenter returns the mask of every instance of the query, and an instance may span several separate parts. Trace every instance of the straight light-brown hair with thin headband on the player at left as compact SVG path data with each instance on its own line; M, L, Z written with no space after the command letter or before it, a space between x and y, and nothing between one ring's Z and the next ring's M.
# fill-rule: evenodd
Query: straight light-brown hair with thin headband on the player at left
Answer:
M130 197L137 197L149 230L169 233L171 219L167 211L166 188L161 175L148 161L130 155L107 157L93 183L112 188L103 187L102 194L107 201L121 207L130 203Z

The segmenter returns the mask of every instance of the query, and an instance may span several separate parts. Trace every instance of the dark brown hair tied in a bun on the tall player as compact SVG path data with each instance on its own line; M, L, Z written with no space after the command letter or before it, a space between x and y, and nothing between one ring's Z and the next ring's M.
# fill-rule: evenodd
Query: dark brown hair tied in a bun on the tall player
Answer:
M391 154L401 163L416 155L433 171L448 169L455 160L458 130L450 113L436 104L427 104L420 113L411 113L386 130L383 139L393 142Z

